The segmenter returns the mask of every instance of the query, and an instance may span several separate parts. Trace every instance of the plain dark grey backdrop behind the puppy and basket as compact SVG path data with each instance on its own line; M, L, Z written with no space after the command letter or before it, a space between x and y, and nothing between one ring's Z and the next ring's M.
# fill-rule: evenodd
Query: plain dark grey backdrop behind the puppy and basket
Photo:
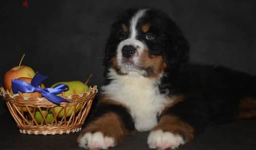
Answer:
M180 25L191 44L191 61L222 64L256 75L255 0L27 0L28 7L22 5L24 1L0 2L0 86L3 86L4 73L18 65L23 53L26 53L24 65L49 76L45 81L47 86L63 80L85 81L90 73L94 74L90 84L101 85L104 80L104 47L111 23L124 9L141 6L166 11ZM6 116L8 111L4 101L0 100L0 114L11 120L10 116ZM13 125L10 127L15 129L15 123L10 123ZM241 124L246 126L250 122L242 121ZM8 128L9 125L4 127ZM233 130L229 126L222 127L231 128L231 132L237 129L234 126ZM216 130L210 132L214 135ZM255 128L245 131L251 135L256 133ZM18 130L8 134L17 135L23 140L27 140L24 136L29 139L35 137L16 132ZM222 143L226 136L219 134L222 136L219 141L209 139L208 143ZM140 137L143 137L145 144L146 135ZM205 137L208 137L207 133ZM201 137L202 141L208 139L205 137ZM216 137L216 134L211 137ZM13 140L12 137L9 138L10 141ZM6 143L9 138L5 138L2 143ZM73 143L75 138L72 137ZM238 144L239 140L231 139L229 142L232 146L232 143ZM244 140L250 147L252 139ZM9 148L15 147L7 145L5 146ZM31 145L27 143L26 146L28 148ZM70 145L73 146L76 147ZM226 146L229 149L230 144ZM204 145L196 148L206 149Z

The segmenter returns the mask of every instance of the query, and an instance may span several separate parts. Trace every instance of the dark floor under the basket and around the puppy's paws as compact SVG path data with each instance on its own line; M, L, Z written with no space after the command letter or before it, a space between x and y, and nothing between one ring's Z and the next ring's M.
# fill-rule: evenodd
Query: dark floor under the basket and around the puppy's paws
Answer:
M62 135L28 135L19 132L10 114L1 115L0 149L82 149L76 144L79 132ZM148 132L137 132L126 137L111 149L149 149L146 144ZM241 120L222 125L209 126L193 142L177 150L252 150L256 149L256 120Z

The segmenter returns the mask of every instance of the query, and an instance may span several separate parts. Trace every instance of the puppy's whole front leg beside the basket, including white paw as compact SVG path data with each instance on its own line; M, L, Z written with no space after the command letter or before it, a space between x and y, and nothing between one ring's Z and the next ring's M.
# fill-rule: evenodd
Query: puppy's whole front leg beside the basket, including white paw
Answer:
M107 149L135 129L131 115L121 104L101 102L94 119L77 138L78 145L89 149Z

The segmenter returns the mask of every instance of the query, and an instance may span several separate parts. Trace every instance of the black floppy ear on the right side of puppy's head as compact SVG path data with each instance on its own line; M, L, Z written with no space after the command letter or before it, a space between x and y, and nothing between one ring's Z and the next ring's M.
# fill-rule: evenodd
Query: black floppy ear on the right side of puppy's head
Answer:
M189 42L180 33L180 35L170 35L166 41L164 51L164 60L169 69L177 68L186 64L189 59Z

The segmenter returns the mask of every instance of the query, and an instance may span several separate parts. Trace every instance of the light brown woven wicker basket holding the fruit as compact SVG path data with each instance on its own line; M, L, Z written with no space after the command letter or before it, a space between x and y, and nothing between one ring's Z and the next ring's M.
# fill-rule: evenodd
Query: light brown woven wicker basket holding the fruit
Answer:
M92 101L98 92L97 86L89 92L61 96L69 102L54 104L46 98L25 97L21 92L10 94L1 87L0 95L15 119L21 133L26 134L63 134L78 132L86 119Z

